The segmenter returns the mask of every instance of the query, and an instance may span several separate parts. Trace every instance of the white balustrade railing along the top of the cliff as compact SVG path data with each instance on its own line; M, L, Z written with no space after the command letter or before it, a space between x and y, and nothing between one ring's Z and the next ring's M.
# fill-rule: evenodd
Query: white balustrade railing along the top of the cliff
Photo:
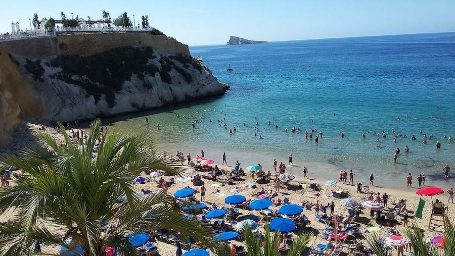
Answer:
M43 32L42 29L37 29L37 31L33 30L22 30L20 33L15 34L0 34L0 40L20 40L25 38L33 38L33 37L47 37L47 36L56 36L57 33L62 32L83 32L83 31L153 31L155 28L141 28L141 27L130 27L130 28L122 28L122 27L56 27L54 32Z

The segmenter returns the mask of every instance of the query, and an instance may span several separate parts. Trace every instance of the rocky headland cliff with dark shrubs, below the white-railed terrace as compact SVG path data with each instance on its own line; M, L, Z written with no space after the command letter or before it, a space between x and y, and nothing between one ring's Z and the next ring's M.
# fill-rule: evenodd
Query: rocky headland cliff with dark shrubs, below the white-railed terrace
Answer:
M23 118L88 120L228 89L193 60L187 45L147 33L112 36L59 35L0 44L0 142L5 144Z

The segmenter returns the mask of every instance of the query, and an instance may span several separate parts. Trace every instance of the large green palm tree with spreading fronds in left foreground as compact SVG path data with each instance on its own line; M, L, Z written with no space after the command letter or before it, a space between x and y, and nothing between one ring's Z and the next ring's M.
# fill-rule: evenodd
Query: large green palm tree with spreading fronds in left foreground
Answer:
M84 256L105 255L108 246L135 255L138 250L125 237L128 233L173 229L182 239L212 236L204 224L185 219L166 191L137 195L131 181L145 168L179 173L169 158L154 149L150 133L104 134L94 160L100 126L95 120L87 144L78 147L60 124L64 145L38 132L36 136L48 146L26 149L22 158L8 155L0 162L0 168L22 170L15 185L0 188L0 214L15 210L13 224L0 224L0 255L31 255L35 242L64 245L74 252L80 245ZM70 244L65 242L68 238Z

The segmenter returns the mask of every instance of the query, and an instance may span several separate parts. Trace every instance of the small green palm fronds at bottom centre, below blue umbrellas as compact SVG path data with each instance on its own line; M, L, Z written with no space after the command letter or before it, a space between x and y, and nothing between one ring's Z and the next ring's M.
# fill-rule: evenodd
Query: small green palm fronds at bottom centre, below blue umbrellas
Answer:
M270 232L268 225L265 226L264 243L262 245L261 239L257 238L250 228L244 227L243 235L245 238L245 249L248 251L249 256L278 256L280 252L278 246L280 245L280 233ZM300 256L306 249L306 245L313 238L311 233L301 233L297 239L292 242L289 248L288 256ZM228 256L229 248L225 243L218 244L215 247L215 254L218 256Z

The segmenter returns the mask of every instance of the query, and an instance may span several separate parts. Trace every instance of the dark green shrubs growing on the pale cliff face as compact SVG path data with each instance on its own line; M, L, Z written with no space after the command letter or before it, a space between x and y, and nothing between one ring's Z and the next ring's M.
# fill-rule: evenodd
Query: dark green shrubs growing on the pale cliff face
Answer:
M193 67L200 73L203 70L200 64L188 56L177 55L169 58L163 56L158 62L159 65L149 63L149 60L155 58L157 56L150 46L140 48L127 46L91 56L60 56L52 60L50 65L61 68L61 71L56 73L53 78L81 86L87 92L87 96L93 95L96 101L105 95L109 107L115 106L115 92L120 91L123 82L129 81L134 74L144 80L144 75L155 77L158 73L161 81L171 85L170 72L172 69L175 69L188 83L193 81L193 77L186 69ZM172 60L181 63L184 68L179 67ZM35 64L32 62L28 64L30 66L28 72L33 74L33 78L36 80L35 77L38 77L39 70ZM151 87L152 85L145 82L144 86Z

